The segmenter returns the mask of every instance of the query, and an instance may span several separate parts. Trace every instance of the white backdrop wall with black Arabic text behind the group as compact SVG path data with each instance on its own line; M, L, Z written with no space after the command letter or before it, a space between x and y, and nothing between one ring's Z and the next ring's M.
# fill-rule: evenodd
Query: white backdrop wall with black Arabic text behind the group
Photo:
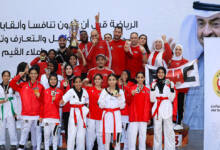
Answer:
M69 35L68 27L74 19L79 21L80 30L90 35L98 12L103 35L112 33L119 24L124 28L123 38L129 38L131 32L147 34L150 48L152 41L162 34L177 40L184 17L192 12L192 3L191 0L1 1L0 71L8 69L13 76L19 62L30 62L41 49L56 50L58 36Z

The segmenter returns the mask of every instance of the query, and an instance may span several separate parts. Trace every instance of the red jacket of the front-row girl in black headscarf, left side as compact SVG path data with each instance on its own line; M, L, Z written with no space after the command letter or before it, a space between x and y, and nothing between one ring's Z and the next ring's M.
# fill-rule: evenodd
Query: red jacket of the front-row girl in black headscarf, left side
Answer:
M52 95L51 92L56 92L56 98L52 102ZM59 103L62 99L63 92L59 88L48 88L44 90L44 99L43 99L43 107L42 107L42 114L41 118L53 118L53 119L60 119L59 115Z

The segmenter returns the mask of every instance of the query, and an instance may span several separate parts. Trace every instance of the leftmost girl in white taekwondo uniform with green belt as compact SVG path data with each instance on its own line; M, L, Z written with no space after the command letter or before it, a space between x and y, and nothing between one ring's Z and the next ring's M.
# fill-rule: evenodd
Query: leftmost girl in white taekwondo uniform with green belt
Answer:
M0 84L0 150L6 150L6 128L8 128L11 149L16 150L18 144L13 101L15 95L9 86L10 72L5 70L2 72L2 83Z

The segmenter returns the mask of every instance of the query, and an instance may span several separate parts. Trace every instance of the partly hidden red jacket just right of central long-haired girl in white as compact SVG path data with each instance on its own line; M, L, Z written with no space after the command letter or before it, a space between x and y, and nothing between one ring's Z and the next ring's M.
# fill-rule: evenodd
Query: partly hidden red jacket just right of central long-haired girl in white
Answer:
M119 88L124 91L125 95L125 108L121 110L121 115L128 116L129 115L129 103L131 102L131 92L130 88L134 86L133 82L128 81L128 84L126 86L119 85Z

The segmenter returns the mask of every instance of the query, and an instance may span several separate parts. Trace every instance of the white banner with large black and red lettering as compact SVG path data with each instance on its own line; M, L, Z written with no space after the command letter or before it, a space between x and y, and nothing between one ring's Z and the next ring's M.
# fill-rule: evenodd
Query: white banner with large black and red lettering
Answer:
M150 87L151 83L156 79L156 70L157 67L145 65L146 86ZM199 86L197 61L193 60L178 68L167 69L166 78L175 83L176 89Z

